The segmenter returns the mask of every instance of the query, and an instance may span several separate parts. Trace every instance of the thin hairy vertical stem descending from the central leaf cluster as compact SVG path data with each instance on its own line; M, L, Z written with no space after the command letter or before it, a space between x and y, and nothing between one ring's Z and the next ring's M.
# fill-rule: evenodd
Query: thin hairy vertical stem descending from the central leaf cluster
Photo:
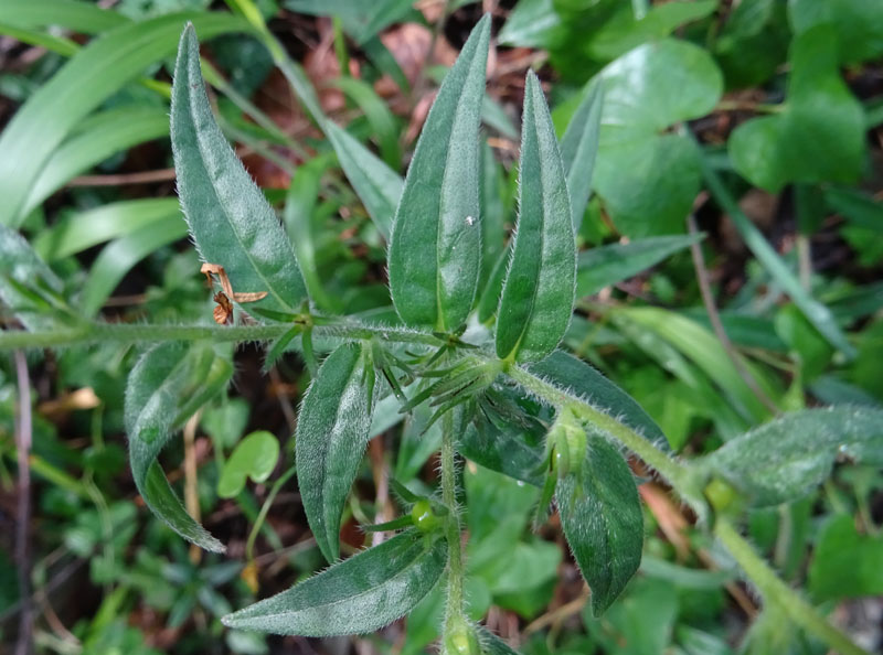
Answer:
M458 629L464 619L464 562L460 545L460 513L457 507L457 470L454 460L454 415L442 418L442 500L448 507L445 537L448 540L448 603L445 632Z

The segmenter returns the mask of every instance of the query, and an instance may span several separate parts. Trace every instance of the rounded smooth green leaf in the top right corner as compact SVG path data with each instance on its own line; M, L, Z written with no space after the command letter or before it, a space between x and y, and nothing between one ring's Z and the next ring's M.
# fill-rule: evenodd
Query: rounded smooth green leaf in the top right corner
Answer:
M819 24L833 26L841 64L883 54L883 11L873 0L788 0L788 18L796 34Z

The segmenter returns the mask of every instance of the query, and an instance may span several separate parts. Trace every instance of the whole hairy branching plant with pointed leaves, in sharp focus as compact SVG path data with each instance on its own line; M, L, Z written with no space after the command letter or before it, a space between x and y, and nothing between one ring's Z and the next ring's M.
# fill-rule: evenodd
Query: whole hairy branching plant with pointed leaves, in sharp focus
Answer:
M486 244L478 135L488 42L489 20L483 19L439 90L401 193L394 172L381 168L382 162L372 160L348 132L320 121L377 230L390 235L391 299L403 324L316 310L319 298L311 284L318 278L307 275L310 265L298 257L298 248L215 124L195 32L188 28L172 87L171 133L181 203L202 259L222 266L228 277L232 292L221 291L233 296L227 300L236 301L237 294L264 297L237 305L235 325L82 322L52 271L23 239L4 229L0 294L31 332L4 333L0 346L157 344L141 356L128 382L132 473L157 516L184 538L215 551L224 546L187 513L158 454L174 430L227 386L233 375L228 343L267 343L269 363L287 348L302 354L313 380L299 415L296 470L310 527L332 566L228 615L227 625L302 635L371 632L408 613L440 580L446 590L445 652L510 652L468 613L458 453L539 486L536 523L554 497L574 558L592 589L592 611L598 615L620 594L641 559L643 517L635 476L620 452L625 449L671 485L704 529L731 551L766 602L831 647L861 652L775 576L741 536L735 520L749 506L800 497L828 477L838 457L880 465L880 410L843 407L786 415L731 439L708 457L685 460L668 452L662 430L625 391L557 350L572 321L575 290L584 284L583 294L597 287L588 268L595 260L577 271L574 229L589 196L605 94L599 85L587 89L558 146L539 80L529 74L518 229L508 250ZM617 84L611 87L616 90ZM692 112L703 110L674 111L663 125L650 127L668 128ZM646 127L636 121L631 129ZM677 139L681 153L690 148L682 136L651 136L657 138ZM606 165L611 165L609 160ZM382 182L359 176L369 167L381 171ZM606 174L609 180L611 172ZM614 190L609 195L621 197ZM391 222L393 206L397 208ZM621 214L626 222L640 214L627 210ZM636 257L609 276L621 279L695 240L637 241L631 255L647 259ZM482 268L489 268L482 254L489 247L502 253L496 275L482 284ZM778 261L775 254L769 260ZM790 279L787 270L786 275ZM792 296L797 301L799 294ZM804 307L811 314L818 305ZM481 322L474 318L476 309ZM648 311L624 310L620 319L653 322ZM827 314L811 319L830 325L825 334L832 343L843 343ZM62 328L63 322L73 326ZM320 364L317 353L327 352ZM720 358L711 361L710 375ZM751 391L736 396L759 421L764 409L757 408ZM426 436L440 427L440 490L426 493L394 483L402 515L365 527L400 534L338 562L341 515L371 437L372 418L387 399L402 412L428 407L422 428ZM236 452L225 473L231 471L238 481L266 473L266 466L254 462L236 469ZM230 493L241 488L233 484Z

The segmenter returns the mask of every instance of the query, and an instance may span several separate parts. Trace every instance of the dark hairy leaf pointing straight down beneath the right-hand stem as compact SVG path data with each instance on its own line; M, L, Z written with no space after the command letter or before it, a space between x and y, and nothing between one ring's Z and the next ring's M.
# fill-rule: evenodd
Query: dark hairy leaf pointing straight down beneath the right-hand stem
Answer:
M583 468L558 481L555 501L599 616L641 563L643 514L631 470L605 439L589 436Z

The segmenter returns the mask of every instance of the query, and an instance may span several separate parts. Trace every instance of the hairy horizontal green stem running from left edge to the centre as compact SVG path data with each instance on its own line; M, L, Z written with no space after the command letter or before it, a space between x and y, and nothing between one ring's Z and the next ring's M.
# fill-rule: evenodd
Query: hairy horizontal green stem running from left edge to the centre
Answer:
M166 341L213 341L215 343L272 341L291 328L288 323L272 325L151 325L120 323L84 323L76 328L51 331L0 332L0 351L12 348L52 348L91 343L159 343ZM318 336L416 343L439 346L438 337L414 330L336 321L316 325Z

